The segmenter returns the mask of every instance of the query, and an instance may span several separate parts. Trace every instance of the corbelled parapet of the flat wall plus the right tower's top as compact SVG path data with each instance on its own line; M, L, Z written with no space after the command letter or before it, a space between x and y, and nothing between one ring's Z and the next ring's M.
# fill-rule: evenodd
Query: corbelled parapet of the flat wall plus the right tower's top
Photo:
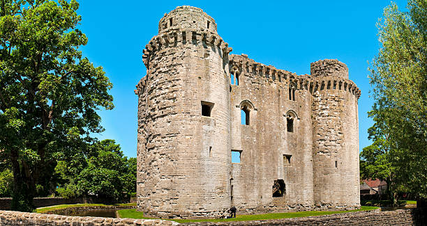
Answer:
M345 76L345 72L347 75ZM360 97L361 91L356 84L348 79L348 68L338 60L319 60L311 63L311 75L280 70L271 65L264 65L248 58L246 54L230 55L230 73L237 76L245 73L257 74L271 83L283 83L297 90L309 90L311 94L317 90L345 90Z

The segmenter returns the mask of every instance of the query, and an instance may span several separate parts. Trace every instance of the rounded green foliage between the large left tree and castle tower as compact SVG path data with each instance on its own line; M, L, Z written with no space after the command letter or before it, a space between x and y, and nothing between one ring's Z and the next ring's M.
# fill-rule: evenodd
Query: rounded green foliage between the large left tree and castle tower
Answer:
M136 191L136 159L127 159L114 140L102 140L89 146L79 161L61 161L57 173L62 197L96 195L112 200L128 197ZM75 173L78 172L78 173Z

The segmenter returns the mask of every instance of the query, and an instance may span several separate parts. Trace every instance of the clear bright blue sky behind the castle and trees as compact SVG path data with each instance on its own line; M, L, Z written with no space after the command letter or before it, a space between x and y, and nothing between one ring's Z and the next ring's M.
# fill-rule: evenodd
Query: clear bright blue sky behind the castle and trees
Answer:
M117 140L126 156L136 156L137 96L145 76L142 49L158 33L158 21L177 6L196 6L213 17L218 34L232 54L297 74L310 74L310 63L329 58L349 67L361 89L360 150L370 145L367 129L368 61L380 47L376 23L390 1L98 1L80 0L80 29L89 42L82 47L96 66L103 66L114 84L116 108L100 111L105 132L100 139ZM404 9L406 1L396 1Z

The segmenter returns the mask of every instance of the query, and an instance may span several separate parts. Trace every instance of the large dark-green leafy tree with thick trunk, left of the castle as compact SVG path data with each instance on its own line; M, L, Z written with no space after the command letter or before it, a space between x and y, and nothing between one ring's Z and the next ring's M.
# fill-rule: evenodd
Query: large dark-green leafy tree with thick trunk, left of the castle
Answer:
M103 131L112 83L78 49L75 0L0 0L0 154L13 170L12 209L32 211L36 188L49 187L58 159Z

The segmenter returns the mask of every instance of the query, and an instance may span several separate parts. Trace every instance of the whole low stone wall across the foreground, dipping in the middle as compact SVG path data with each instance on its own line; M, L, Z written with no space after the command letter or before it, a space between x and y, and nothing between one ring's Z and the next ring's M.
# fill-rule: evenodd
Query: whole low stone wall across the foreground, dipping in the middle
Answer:
M328 216L287 218L280 220L231 221L221 223L183 223L170 220L144 220L129 218L96 218L62 216L55 214L0 211L0 225L45 226L45 225L426 225L426 209L397 211L359 211Z

